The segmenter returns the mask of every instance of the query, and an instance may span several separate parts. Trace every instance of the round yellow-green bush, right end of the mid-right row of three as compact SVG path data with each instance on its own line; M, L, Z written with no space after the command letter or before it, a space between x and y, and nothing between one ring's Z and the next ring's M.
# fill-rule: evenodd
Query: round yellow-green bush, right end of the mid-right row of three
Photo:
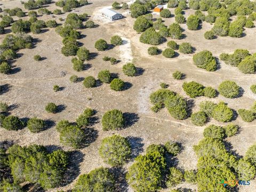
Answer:
M236 98L239 90L240 87L233 81L223 81L218 87L220 94L226 98Z

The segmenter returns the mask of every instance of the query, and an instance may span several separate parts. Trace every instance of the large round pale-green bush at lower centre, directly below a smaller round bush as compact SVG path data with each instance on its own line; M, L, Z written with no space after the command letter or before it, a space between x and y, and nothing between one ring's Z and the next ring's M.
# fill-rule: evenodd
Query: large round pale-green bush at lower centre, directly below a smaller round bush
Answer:
M126 138L113 135L102 140L99 154L111 166L121 166L130 159L131 146Z

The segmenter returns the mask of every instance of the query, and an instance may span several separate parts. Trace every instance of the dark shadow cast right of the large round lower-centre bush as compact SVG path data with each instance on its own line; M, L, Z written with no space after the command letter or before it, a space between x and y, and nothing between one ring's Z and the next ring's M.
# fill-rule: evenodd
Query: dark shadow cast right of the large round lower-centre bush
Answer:
M144 143L142 143L143 139L139 137L127 137L132 149L131 159L134 160L138 155L143 152Z

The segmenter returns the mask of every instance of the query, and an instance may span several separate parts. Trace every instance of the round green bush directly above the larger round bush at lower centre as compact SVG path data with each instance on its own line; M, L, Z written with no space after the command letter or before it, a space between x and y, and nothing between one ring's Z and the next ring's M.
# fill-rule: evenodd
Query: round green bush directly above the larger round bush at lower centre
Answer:
M122 111L117 109L107 111L103 115L101 123L103 131L122 129L124 127Z

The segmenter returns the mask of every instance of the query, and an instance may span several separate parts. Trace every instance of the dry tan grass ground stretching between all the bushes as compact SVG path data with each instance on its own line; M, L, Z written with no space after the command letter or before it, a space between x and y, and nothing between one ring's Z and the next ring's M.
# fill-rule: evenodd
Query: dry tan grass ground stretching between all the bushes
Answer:
M55 124L61 119L68 119L74 122L79 114L86 107L93 108L97 111L95 123L91 125L91 134L93 141L90 145L74 151L74 156L71 163L76 167L71 179L66 186L52 189L49 191L69 190L74 186L79 174L87 173L97 167L109 165L105 164L98 154L98 149L103 138L118 133L124 137L129 137L132 143L134 156L139 153L143 154L146 147L151 143L165 143L166 141L178 141L182 144L183 150L175 159L175 163L182 169L196 169L197 157L193 151L193 145L196 145L203 138L203 130L207 125L219 123L211 119L205 126L195 126L191 123L190 118L185 120L176 120L172 118L167 109L162 109L158 113L150 110L151 103L149 101L150 93L160 88L159 83L165 82L169 84L170 90L179 93L185 98L188 98L182 89L183 82L196 81L204 86L212 86L218 89L218 85L225 80L235 81L244 90L242 97L228 99L218 95L216 98L198 97L193 99L193 111L198 111L198 104L204 100L214 102L224 101L234 110L240 108L250 108L256 100L256 95L250 91L250 86L256 84L254 75L242 74L236 67L226 65L220 61L218 70L209 72L204 69L199 69L193 64L192 57L194 54L179 53L178 57L165 58L162 54L149 55L147 53L150 45L139 42L140 34L133 30L134 18L131 18L127 10L120 10L126 18L108 22L99 17L99 10L103 7L110 6L113 1L110 0L91 0L91 4L79 7L72 12L88 13L90 20L93 20L98 27L79 29L83 38L78 41L87 47L90 52L95 53L95 58L86 61L86 70L77 72L72 68L71 57L65 57L61 54L62 38L55 33L54 28L50 28L41 34L31 34L37 39L34 49L23 49L18 53L20 58L16 59L13 66L17 73L10 75L0 75L1 101L12 105L11 114L17 115L20 118L38 117L47 120L49 127L47 130L40 133L31 133L27 128L19 131L7 131L0 129L0 141L9 140L18 143L21 146L30 144L44 145L50 150L62 148L64 150L73 150L62 146L59 140L59 133L55 129ZM24 9L20 1L1 1L2 9L21 7ZM57 9L54 3L50 4L47 9ZM174 9L170 9L174 13ZM195 12L188 9L185 11L185 17ZM57 23L59 18L65 19L68 13L57 15L52 18L51 15L43 15L42 20L55 19ZM159 15L154 15L158 18ZM18 18L14 17L15 20ZM164 24L169 26L174 22L174 17L163 18ZM255 24L255 21L254 21ZM247 49L250 53L256 52L256 31L255 28L246 28L245 36L242 38L219 37L212 40L206 40L204 33L210 30L213 25L203 22L202 29L197 31L187 30L187 25L181 24L185 29L183 34L186 38L175 40L178 44L189 42L195 47L195 53L203 50L209 50L214 57L219 57L223 52L233 53L235 49ZM125 42L121 46L113 47L113 49L99 52L94 48L94 43L99 38L105 39L110 43L110 38L113 35L119 35ZM6 34L5 34L6 35ZM3 41L5 35L1 35L0 41ZM171 38L167 37L167 41ZM167 41L158 47L165 49ZM40 54L45 59L43 61L35 61L34 55ZM109 62L102 60L104 56L115 57L120 62L116 65L110 65ZM140 70L140 73L135 77L125 76L122 72L122 66L132 61ZM69 77L77 75L84 78L86 76L97 75L100 70L108 69L111 73L115 73L123 81L126 82L126 89L121 92L116 92L110 89L109 84L98 84L97 87L86 89L83 82L70 83ZM179 70L186 74L186 78L180 81L172 77L172 73ZM61 91L54 92L53 85L62 87ZM48 102L54 102L60 106L60 111L57 114L49 114L45 111L45 106ZM110 109L119 109L125 113L128 126L119 131L102 131L101 118L102 115ZM227 138L231 143L232 150L238 155L245 155L246 149L253 145L256 141L256 123L246 123L241 117L234 119L233 123L241 126L240 133L234 137ZM125 165L127 169L132 164L132 161ZM75 168L74 168L75 169ZM119 170L120 177L124 174ZM124 179L124 178L123 178ZM196 185L188 186L186 183L181 183L178 187L191 188L196 190ZM256 189L256 180L251 181L250 186L239 187L239 191L252 192ZM133 191L130 187L124 186L121 191ZM163 189L162 191L168 191Z

